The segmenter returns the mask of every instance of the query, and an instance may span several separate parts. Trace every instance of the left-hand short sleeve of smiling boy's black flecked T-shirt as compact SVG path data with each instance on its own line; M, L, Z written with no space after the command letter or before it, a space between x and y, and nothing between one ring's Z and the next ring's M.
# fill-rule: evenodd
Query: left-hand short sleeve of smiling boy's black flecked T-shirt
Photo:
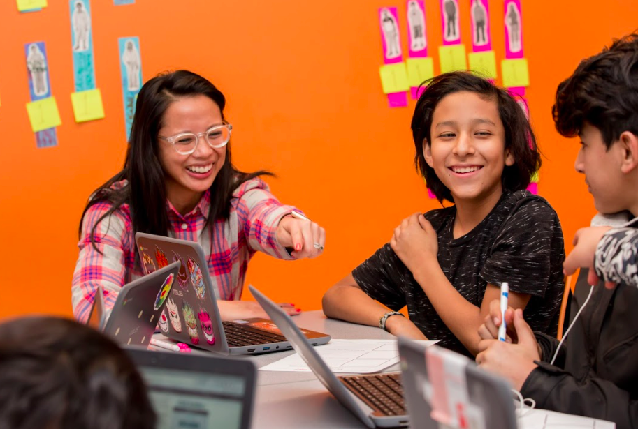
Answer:
M403 285L410 283L406 276L412 277L412 273L389 243L352 271L354 281L363 292L394 311L405 306Z

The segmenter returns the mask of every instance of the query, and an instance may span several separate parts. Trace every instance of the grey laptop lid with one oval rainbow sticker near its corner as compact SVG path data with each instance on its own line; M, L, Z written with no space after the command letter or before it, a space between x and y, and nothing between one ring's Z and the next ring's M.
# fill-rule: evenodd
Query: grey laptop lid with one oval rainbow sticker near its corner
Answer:
M102 287L98 287L87 324L114 338L120 345L147 347L175 286L180 262L124 285L106 318Z

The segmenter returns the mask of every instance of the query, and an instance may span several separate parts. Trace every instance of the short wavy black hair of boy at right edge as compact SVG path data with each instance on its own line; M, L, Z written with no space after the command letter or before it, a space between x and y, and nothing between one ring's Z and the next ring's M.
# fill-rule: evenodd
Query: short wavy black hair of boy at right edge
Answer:
M583 59L556 90L556 130L575 137L585 122L600 130L607 149L625 131L638 135L638 34Z

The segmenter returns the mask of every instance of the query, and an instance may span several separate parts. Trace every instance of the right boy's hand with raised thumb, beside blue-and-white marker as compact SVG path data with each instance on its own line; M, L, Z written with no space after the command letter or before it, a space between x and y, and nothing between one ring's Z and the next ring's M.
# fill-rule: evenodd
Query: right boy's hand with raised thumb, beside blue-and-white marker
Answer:
M482 327L482 326L481 326ZM523 310L514 312L514 329L518 343L505 343L495 339L481 340L477 363L481 368L509 379L520 391L525 379L540 361L539 347L530 325L523 319Z

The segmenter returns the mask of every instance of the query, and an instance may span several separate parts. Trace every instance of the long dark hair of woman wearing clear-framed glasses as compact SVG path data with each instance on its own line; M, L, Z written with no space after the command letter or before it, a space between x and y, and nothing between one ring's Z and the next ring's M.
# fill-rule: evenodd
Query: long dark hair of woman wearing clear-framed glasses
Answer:
M80 238L82 221L87 210L99 202L109 202L112 207L93 225L91 230L93 246L95 246L94 234L97 225L125 203L130 207L133 234L146 232L166 236L169 223L166 213L165 174L157 156L159 153L157 135L162 127L164 113L171 103L178 98L199 95L213 100L219 106L222 120L224 120L226 105L224 94L200 75L187 70L177 70L153 77L142 86L136 103L124 168L93 193L80 219ZM231 211L231 196L235 188L262 174L272 175L266 171L245 173L237 170L231 163L229 142L226 145L226 161L210 186L210 209L205 227L217 220L228 219ZM114 183L122 180L128 181L126 186L121 189L112 188ZM213 228L209 229L212 234Z

